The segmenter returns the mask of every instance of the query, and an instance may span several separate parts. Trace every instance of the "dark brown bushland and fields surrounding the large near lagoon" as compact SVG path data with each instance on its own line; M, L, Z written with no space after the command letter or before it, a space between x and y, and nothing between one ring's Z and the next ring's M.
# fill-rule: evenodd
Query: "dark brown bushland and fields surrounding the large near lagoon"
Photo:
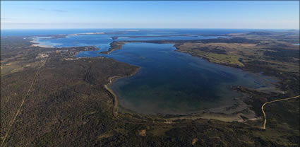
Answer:
M257 45L261 42L249 38L174 43L179 52L280 78L281 94L236 88L262 115L263 102L299 95L299 56L291 57L299 48ZM299 146L299 99L266 105L265 130L260 129L263 119L166 122L168 116L114 114L112 95L104 85L109 77L131 75L138 67L103 57L74 57L93 47L30 45L23 37L1 37L1 146ZM37 72L32 93L20 109Z

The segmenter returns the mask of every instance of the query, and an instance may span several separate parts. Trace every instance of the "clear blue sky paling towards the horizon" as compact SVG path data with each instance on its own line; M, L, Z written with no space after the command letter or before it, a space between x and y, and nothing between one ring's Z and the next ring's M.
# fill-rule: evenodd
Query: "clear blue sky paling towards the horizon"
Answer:
M2 29L299 29L299 1L1 1Z

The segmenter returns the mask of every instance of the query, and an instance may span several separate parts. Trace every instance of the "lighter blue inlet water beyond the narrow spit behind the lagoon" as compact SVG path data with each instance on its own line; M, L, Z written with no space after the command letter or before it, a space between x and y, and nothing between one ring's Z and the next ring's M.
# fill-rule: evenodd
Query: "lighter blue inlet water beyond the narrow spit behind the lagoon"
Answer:
M224 35L224 33L227 33L228 30L223 30L219 33L217 32L210 32L210 31L203 31L200 30L187 30L184 34L183 30L176 30L172 32L172 30L167 29L167 31L163 30L90 30L88 32L82 32L83 30L80 30L80 33L95 33L95 32L104 32L107 34L103 35L68 35L66 38L59 38L54 40L43 40L44 37L35 37L35 42L40 42L40 45L43 46L50 46L50 47L82 47L82 46L95 46L99 47L100 51L107 51L109 49L111 43L112 37L119 36L117 41L124 41L124 40L203 40L203 39L212 39L217 37L226 37L226 36L218 36L218 35ZM246 31L246 30L240 30L240 31ZM218 34L215 36L203 36L203 35L209 35L210 34ZM71 30L68 32L63 32L66 34L72 34L75 33ZM203 35L198 35L203 34ZM165 36L169 35L169 36ZM173 35L173 36L172 36ZM176 36L176 35L187 35L187 36ZM126 36L126 37L124 37ZM151 37L134 37L134 36L151 36ZM152 37L157 36L157 37ZM96 53L97 51L90 52L92 54ZM85 53L86 54L86 53ZM79 56L81 56L79 54Z

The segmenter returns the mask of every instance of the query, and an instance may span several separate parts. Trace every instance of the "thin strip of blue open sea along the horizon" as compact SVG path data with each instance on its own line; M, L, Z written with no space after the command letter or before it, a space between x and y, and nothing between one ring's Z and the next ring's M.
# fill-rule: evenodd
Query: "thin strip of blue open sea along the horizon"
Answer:
M139 30L139 31L136 31ZM119 35L180 35L203 34L224 35L227 33L250 33L253 29L16 29L1 30L1 36L32 36L32 35L59 35L75 33L115 33Z

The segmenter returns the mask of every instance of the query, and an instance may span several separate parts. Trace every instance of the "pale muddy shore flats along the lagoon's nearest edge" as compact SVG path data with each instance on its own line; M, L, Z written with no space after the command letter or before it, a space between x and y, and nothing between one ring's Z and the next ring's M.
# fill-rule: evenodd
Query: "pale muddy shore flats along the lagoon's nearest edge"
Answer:
M250 107L244 102L248 98L241 94L238 98L233 98L233 102L227 105L208 108L206 110L196 110L193 112L176 113L156 113L156 114L141 114L130 110L130 108L119 106L122 114L130 114L131 116L138 115L140 117L150 117L164 119L168 123L174 123L178 119L214 119L222 122L247 122L248 120L261 119ZM158 123L158 122L157 122Z

